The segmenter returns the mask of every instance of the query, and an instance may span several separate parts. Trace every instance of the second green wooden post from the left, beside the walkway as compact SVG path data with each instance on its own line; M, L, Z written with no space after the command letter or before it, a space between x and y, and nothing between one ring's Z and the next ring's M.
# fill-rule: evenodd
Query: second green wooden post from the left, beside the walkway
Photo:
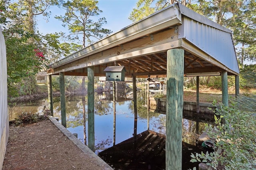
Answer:
M67 127L66 123L66 98L65 98L65 77L64 73L60 73L60 108L61 108L61 124Z

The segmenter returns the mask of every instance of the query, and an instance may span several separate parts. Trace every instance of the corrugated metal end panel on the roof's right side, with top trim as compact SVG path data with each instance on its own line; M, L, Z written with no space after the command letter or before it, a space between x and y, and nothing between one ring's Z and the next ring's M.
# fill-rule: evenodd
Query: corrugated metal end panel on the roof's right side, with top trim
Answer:
M178 38L185 38L229 69L239 73L232 32L212 20L180 5L182 25Z

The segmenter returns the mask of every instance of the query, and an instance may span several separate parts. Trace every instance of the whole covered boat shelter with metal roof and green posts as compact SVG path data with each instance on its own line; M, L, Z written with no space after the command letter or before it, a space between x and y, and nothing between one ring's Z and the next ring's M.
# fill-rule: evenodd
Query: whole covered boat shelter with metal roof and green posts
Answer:
M52 75L60 75L62 125L66 127L64 75L88 76L88 147L94 150L94 76L105 76L108 66L124 66L126 77L167 78L166 169L182 167L182 111L184 76L222 76L222 103L228 105L228 75L239 68L232 32L180 3L172 4L49 65L49 109L53 113ZM136 93L134 93L134 111ZM135 115L136 119L136 115Z

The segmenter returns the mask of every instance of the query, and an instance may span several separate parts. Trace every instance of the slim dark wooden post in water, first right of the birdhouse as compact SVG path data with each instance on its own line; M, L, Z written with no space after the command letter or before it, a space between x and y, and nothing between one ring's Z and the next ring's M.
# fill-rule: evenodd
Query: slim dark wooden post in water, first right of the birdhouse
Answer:
M133 138L134 138L134 144L136 144L137 141L137 121L138 121L138 115L137 115L137 87L136 87L136 76L132 76L132 91L133 91L133 105L134 105L134 131L133 131Z

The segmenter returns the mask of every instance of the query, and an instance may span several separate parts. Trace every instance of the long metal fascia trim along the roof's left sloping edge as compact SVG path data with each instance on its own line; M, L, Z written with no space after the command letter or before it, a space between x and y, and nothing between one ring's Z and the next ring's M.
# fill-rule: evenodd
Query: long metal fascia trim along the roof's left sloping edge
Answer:
M66 62L80 59L84 57L84 55L98 53L116 45L129 42L136 38L140 38L146 35L145 31L148 30L151 30L151 32L155 32L170 27L169 25L166 26L166 23L172 24L170 26L182 23L182 16L176 4L172 4L171 6L159 10L158 12L155 12L154 14L151 14L150 16L143 18L142 20L139 20L134 24L130 24L129 26L122 28L120 31L113 33L110 36L107 36L99 40L98 42L93 43L92 45L80 49L79 51L63 59L60 59L59 61L56 61L55 63L50 64L49 67L54 68L57 65L61 66L64 65ZM163 28L159 29L159 26L161 25L163 26ZM154 28L156 28L156 30L154 30ZM145 32L145 34L142 34L143 32ZM148 31L147 35L151 32Z

